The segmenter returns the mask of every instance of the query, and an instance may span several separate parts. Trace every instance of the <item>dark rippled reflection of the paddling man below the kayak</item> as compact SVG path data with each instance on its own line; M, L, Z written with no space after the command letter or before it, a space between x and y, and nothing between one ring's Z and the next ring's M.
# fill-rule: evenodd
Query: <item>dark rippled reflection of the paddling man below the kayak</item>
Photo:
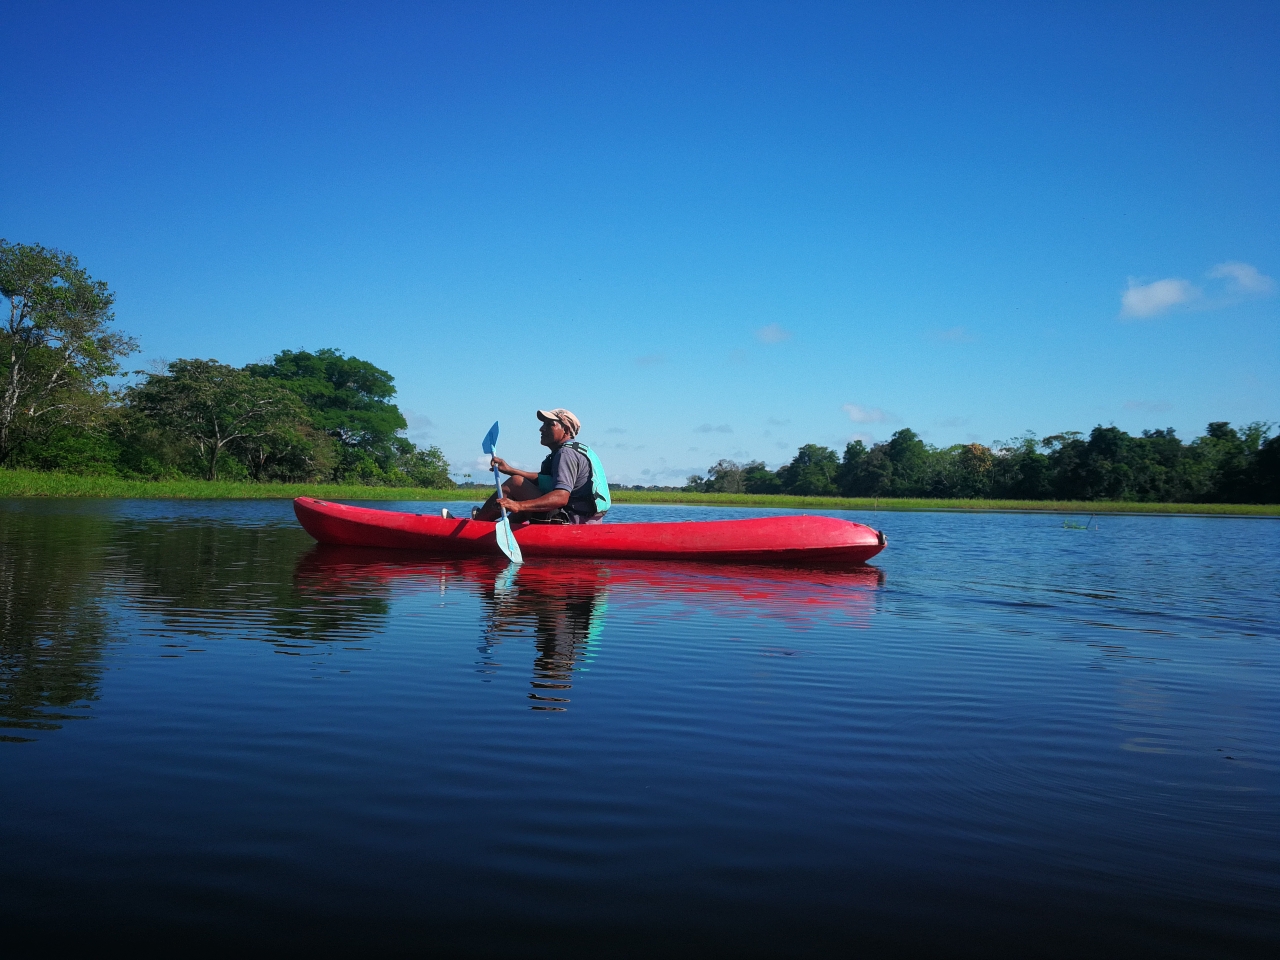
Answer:
M573 671L591 659L608 609L608 570L585 567L550 571L508 567L485 590L489 623L480 654L486 667L497 664L494 646L507 637L532 635L535 710L564 710ZM488 672L488 671L486 671Z

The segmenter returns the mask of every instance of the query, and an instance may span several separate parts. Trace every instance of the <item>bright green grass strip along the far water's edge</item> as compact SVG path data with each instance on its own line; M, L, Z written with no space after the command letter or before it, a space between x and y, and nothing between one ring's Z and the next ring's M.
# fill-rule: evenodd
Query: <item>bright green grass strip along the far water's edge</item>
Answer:
M205 480L120 480L116 477L0 470L0 498L83 497L118 499L293 499L328 500L477 500L481 492L425 490L420 486L342 486L337 484L246 484ZM671 503L703 507L795 507L810 509L961 511L1034 513L1165 513L1199 516L1280 517L1280 504L1267 503L1129 503L1110 500L936 500L847 499L785 494L662 493L617 490L616 503Z

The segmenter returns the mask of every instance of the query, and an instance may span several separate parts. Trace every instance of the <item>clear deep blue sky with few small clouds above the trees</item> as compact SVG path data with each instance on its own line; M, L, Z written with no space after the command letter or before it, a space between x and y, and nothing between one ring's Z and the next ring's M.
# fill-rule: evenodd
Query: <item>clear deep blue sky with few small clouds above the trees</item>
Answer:
M0 237L611 479L1280 420L1280 6L5 5Z

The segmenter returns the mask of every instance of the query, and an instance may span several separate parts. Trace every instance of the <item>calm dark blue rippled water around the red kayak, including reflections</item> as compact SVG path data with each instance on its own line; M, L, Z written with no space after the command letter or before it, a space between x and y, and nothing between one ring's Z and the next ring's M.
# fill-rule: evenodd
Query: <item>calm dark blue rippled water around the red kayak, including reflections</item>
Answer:
M1280 955L1280 522L847 516L874 567L516 572L0 502L0 929Z

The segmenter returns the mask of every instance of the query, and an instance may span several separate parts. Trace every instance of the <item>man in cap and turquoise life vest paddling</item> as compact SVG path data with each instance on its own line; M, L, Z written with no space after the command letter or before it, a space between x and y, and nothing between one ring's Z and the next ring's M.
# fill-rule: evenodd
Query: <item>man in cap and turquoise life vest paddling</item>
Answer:
M539 410L543 421L539 439L550 449L538 472L517 470L502 457L493 466L511 479L502 485L503 498L494 493L472 520L494 521L502 507L513 520L541 520L554 524L599 524L609 508L609 484L599 457L577 436L582 424L562 407Z

